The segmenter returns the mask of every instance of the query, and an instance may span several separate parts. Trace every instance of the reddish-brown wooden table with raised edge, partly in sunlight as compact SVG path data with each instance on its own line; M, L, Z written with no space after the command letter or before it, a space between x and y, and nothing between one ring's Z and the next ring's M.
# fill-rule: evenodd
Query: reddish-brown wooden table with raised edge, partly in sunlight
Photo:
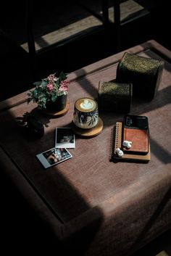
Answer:
M149 117L147 164L109 161L112 127L123 117L112 112L99 113L104 123L99 136L77 137L72 159L46 170L36 159L54 146L54 129L70 125L75 101L96 99L99 80L115 78L124 51L70 74L70 110L54 119L40 114L46 124L41 139L25 136L15 120L36 107L25 102L27 92L0 104L1 169L54 236L84 255L128 255L171 226L171 53L155 41L127 51L164 59L156 98L135 100L131 109L133 115Z

